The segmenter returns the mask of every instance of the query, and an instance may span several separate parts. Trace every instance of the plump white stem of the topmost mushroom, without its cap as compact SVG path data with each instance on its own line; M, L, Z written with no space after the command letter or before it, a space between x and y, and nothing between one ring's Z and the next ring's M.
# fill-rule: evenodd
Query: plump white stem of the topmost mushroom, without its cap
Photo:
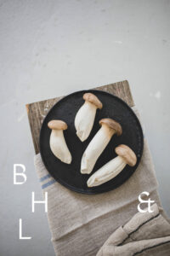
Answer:
M91 102L84 102L75 118L77 137L84 142L92 131L97 107Z

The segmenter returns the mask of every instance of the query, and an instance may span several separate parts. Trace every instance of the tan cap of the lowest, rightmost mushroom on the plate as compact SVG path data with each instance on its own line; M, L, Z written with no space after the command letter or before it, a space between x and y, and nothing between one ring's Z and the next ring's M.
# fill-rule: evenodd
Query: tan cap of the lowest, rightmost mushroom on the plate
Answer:
M128 166L135 166L137 162L136 154L127 145L119 145L115 148L116 154L122 156Z

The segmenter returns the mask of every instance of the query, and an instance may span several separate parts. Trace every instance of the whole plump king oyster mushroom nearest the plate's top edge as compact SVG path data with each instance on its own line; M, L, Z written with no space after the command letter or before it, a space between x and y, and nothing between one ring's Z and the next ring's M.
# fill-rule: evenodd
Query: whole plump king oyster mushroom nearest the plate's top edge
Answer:
M83 99L85 102L78 110L75 118L77 137L79 137L82 142L88 138L92 131L97 108L101 109L103 107L98 97L93 93L85 93Z

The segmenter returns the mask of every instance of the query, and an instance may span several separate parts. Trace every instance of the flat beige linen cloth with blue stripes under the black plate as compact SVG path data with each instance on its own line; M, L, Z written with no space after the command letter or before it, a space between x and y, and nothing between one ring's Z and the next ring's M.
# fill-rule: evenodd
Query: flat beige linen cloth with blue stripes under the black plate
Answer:
M138 197L143 191L150 193L151 200L156 201L165 216L145 139L143 156L133 176L119 188L104 194L82 195L66 189L50 176L40 154L35 156L35 166L43 195L48 192L48 224L58 256L96 255L109 236L138 212Z

